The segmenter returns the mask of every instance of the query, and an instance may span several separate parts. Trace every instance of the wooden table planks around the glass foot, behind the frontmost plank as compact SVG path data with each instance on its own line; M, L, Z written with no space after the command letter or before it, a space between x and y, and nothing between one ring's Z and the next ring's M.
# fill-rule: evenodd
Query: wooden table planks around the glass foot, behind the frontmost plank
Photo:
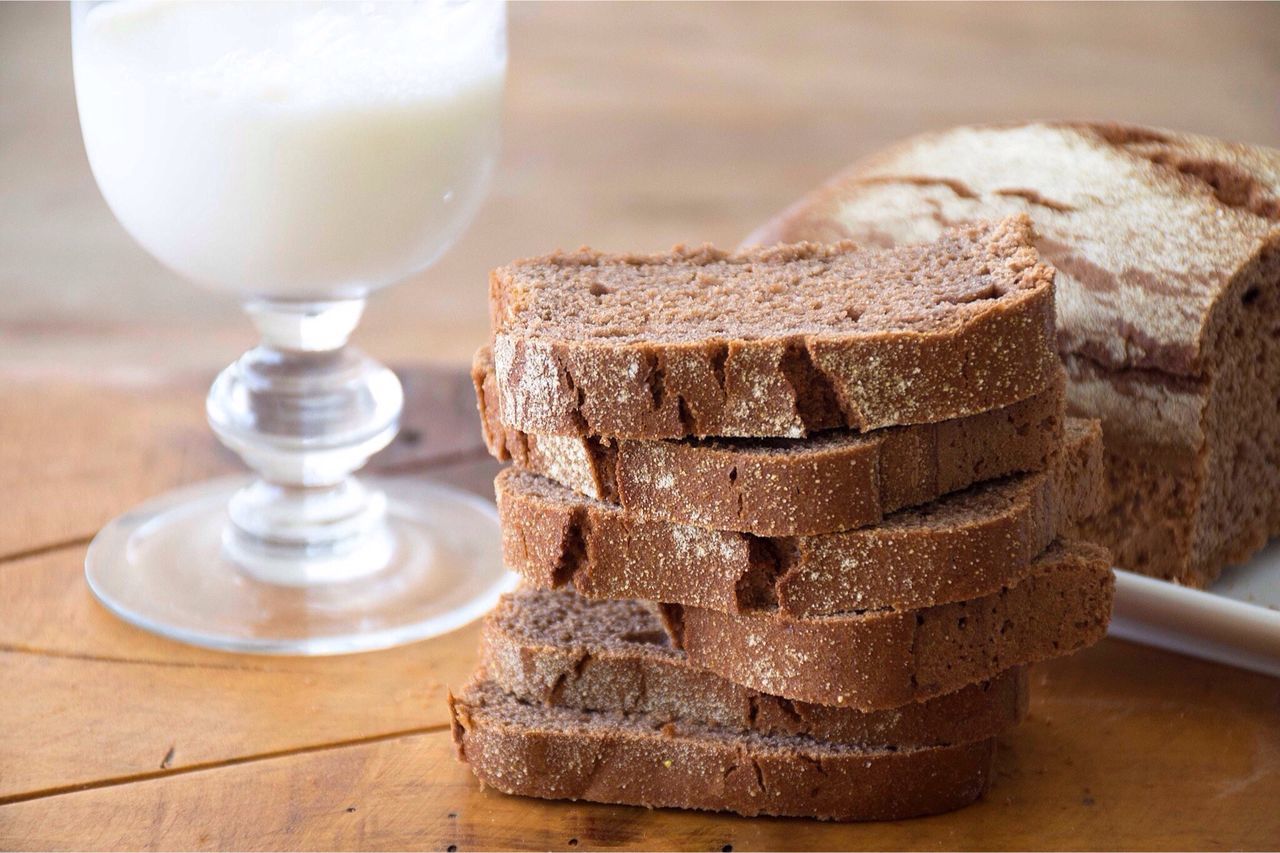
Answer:
M371 467L492 497L498 465L470 377L398 375L401 434ZM23 496L0 515L0 672L26 688L0 692L0 802L447 722L445 690L474 665L474 625L376 656L260 658L159 640L93 601L83 543L97 526L239 470L204 423L205 382L0 386L0 485Z

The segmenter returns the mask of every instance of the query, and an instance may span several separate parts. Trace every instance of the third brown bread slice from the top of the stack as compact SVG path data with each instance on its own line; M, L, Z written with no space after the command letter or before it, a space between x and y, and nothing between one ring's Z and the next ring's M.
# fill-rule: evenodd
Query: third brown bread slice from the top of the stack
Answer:
M722 612L777 606L791 616L911 608L1000 589L1103 501L1096 421L1070 420L1046 471L955 492L882 524L760 538L644 521L550 480L507 469L495 480L503 558L541 588L645 598Z

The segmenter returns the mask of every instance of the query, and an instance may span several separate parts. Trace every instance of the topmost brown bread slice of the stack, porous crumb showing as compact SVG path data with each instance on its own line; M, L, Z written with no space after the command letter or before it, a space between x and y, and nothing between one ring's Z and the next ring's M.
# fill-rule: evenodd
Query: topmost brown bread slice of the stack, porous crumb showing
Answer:
M1053 380L1030 220L928 246L582 250L494 270L502 420L608 438L801 437L975 415Z

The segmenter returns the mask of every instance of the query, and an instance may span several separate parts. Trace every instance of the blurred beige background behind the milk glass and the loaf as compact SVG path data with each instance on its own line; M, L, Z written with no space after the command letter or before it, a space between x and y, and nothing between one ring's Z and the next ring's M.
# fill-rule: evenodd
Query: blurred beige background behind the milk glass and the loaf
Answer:
M919 131L1120 119L1280 146L1277 4L517 3L509 41L494 187L442 263L372 298L356 339L385 361L468 361L512 257L732 246ZM252 343L99 195L67 6L0 3L0 370L146 382Z

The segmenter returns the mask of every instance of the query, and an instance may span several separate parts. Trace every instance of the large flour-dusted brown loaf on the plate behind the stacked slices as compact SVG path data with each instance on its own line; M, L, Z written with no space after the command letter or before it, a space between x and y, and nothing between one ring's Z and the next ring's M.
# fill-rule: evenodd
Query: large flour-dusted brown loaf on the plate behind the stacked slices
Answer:
M856 164L748 243L895 246L1025 211L1117 564L1206 585L1280 534L1280 151L1155 128L961 127Z

